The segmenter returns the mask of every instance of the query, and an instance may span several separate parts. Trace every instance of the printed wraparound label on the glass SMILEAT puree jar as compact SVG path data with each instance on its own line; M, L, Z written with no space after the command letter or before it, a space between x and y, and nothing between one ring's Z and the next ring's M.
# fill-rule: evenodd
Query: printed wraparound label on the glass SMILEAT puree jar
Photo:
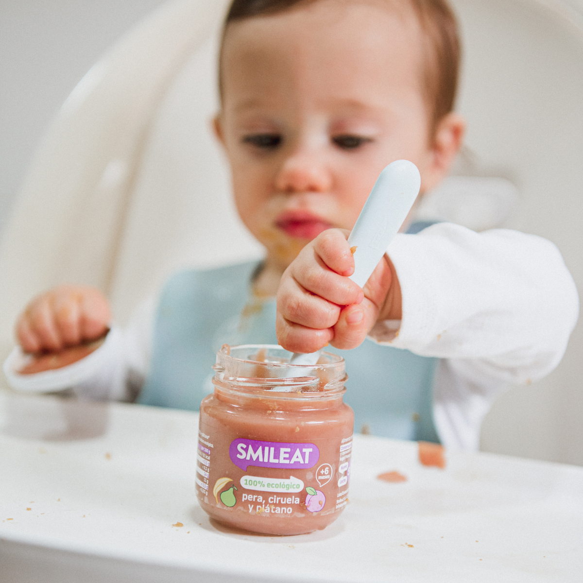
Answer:
M220 459L215 438L199 430L199 496L205 503L214 500L217 510L239 509L255 517L299 519L341 511L347 503L352 435L314 441L319 447L313 442L231 437L223 447L228 444L227 459L238 468L233 472Z

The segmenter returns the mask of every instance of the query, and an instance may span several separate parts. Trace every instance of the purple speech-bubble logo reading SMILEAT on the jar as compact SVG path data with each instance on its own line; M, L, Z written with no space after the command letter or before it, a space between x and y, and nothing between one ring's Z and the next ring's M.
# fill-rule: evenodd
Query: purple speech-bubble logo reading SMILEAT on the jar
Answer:
M320 452L313 443L282 443L238 438L231 441L229 456L238 468L246 472L248 466L285 469L313 468L318 463Z

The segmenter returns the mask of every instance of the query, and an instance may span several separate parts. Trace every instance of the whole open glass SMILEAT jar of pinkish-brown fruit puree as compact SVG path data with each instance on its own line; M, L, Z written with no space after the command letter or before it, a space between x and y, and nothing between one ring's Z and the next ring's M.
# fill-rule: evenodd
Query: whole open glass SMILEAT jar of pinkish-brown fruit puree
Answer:
M196 496L216 521L298 535L335 521L348 501L354 413L342 357L290 366L279 346L223 346L201 403ZM300 376L301 375L301 376Z

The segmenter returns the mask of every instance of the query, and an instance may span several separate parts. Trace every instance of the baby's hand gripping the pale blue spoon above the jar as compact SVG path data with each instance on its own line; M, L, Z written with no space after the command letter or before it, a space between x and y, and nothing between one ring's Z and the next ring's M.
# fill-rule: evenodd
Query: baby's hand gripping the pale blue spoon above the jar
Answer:
M276 332L290 352L315 352L328 343L356 348L378 318L401 318L401 290L386 255L364 289L349 279L354 257L348 233L329 229L319 234L283 273Z

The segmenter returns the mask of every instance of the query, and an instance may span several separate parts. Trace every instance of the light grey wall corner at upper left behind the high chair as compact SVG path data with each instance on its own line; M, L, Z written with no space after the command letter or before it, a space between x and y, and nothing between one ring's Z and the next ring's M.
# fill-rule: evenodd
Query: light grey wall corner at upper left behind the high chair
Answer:
M73 87L163 0L0 0L0 230L34 148Z

